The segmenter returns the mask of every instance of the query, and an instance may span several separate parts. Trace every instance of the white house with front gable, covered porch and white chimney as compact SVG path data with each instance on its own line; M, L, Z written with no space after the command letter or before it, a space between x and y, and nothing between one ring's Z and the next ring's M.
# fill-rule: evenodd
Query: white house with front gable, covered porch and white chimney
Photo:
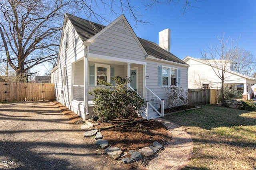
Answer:
M170 53L170 29L160 35L160 46L138 38L124 15L105 27L65 14L58 62L51 71L56 100L91 118L94 96L89 92L98 86L97 80L128 77L128 87L149 101L147 110L163 116L165 87L188 89L188 64ZM153 115L148 111L146 116Z

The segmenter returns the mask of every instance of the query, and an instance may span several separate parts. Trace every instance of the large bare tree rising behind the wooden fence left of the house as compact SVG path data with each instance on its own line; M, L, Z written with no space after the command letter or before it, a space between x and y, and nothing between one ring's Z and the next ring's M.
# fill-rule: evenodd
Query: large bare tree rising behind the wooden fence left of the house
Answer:
M17 76L37 64L56 59L64 0L1 0L0 33L6 60Z

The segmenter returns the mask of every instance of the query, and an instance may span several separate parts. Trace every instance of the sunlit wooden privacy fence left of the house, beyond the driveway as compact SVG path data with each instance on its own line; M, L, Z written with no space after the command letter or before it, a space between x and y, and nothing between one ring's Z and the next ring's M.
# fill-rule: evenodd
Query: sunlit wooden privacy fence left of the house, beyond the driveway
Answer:
M0 82L0 102L54 100L54 84Z

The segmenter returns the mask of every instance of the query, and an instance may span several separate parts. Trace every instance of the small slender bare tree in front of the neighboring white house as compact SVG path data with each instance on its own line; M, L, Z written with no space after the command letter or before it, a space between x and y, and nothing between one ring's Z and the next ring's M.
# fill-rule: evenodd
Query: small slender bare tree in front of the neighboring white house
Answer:
M238 59L238 44L239 39L228 38L224 39L224 34L218 37L220 41L219 45L211 45L201 52L205 62L207 62L213 69L214 73L221 80L221 96L222 96L222 106L224 106L224 81L227 78L226 72L230 70L230 66L234 61Z

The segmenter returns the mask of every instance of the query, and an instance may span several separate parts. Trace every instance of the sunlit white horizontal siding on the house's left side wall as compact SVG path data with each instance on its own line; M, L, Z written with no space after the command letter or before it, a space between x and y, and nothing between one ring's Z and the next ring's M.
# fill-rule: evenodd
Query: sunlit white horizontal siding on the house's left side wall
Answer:
M57 101L62 103L64 106L68 107L72 111L76 111L71 104L71 90L72 90L72 62L78 60L81 57L84 57L84 46L82 45L82 40L79 38L78 34L74 30L73 26L71 25L70 21L67 20L67 23L62 30L62 44L60 45L60 53L59 53L59 63L57 70L54 71L56 76L56 98ZM68 33L68 48L65 50L65 38L66 33ZM82 64L82 63L76 63ZM64 85L64 67L67 68L67 84ZM73 70L79 72L80 68L78 67L77 70ZM82 72L83 74L83 72ZM58 77L57 77L58 76ZM83 76L81 78L83 80ZM79 82L79 84L82 82Z

